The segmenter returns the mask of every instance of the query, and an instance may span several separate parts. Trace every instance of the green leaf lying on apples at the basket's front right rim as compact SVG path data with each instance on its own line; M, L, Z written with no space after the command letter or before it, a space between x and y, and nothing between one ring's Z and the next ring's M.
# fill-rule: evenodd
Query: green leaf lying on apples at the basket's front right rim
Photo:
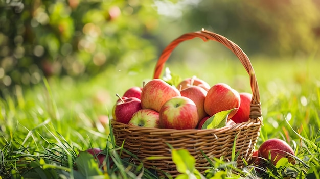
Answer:
M231 110L220 111L208 118L202 125L202 129L216 129L226 126L228 115L237 108Z

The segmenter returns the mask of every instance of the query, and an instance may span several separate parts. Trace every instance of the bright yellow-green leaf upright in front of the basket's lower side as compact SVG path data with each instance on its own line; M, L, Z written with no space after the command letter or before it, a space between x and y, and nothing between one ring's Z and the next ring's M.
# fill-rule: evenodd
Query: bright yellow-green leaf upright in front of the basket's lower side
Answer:
M173 149L172 161L177 166L180 173L189 174L195 170L195 158L191 156L187 149Z

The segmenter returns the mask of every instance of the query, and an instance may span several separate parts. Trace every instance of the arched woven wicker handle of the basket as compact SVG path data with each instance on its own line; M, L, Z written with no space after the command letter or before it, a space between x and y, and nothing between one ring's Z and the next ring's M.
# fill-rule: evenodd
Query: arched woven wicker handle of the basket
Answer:
M201 31L186 33L181 35L177 39L173 40L162 52L161 56L159 57L157 64L154 69L153 79L158 79L161 75L161 72L165 66L165 62L170 57L172 50L181 42L185 40L190 40L195 37L201 38L203 41L214 40L217 42L222 43L224 46L229 48L240 60L242 65L244 66L245 70L250 76L250 86L252 90L252 100L250 102L250 118L258 118L261 117L261 103L260 103L260 96L259 96L259 87L258 82L256 79L255 70L252 67L252 64L247 57L247 55L242 51L242 49L232 42L231 40L221 36L219 34L207 31L202 29Z

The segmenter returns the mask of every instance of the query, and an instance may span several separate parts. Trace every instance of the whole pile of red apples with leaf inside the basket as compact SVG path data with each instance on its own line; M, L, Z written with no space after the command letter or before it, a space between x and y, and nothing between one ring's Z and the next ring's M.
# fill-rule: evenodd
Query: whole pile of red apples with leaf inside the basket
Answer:
M195 76L177 86L153 79L117 96L113 120L177 130L214 129L248 121L252 99L250 93L239 93L225 83L210 86Z

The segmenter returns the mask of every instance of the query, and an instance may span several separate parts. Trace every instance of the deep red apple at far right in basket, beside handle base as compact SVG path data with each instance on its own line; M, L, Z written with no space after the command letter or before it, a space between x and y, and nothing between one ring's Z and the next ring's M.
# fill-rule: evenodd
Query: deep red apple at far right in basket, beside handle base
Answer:
M239 93L240 94L240 107L237 113L231 117L235 123L246 122L249 120L250 115L250 103L252 94L250 93Z

